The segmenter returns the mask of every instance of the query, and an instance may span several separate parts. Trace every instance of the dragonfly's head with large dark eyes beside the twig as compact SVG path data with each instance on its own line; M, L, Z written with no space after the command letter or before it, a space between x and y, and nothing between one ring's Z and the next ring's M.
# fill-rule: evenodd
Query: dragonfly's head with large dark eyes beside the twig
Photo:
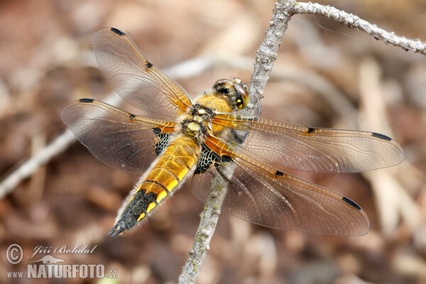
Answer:
M244 109L249 103L249 92L246 84L241 79L217 80L213 85L213 90L218 97L226 97L236 109Z

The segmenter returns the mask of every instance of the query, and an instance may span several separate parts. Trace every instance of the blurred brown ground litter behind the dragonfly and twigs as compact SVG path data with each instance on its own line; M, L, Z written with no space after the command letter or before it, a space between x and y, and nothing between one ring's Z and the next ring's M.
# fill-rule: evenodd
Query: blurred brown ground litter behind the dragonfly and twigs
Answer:
M320 3L426 40L424 0ZM179 65L173 72L195 97L220 78L249 82L273 5L271 0L0 1L1 179L65 131L63 107L111 94L90 45L94 31L112 26L129 33L147 58L166 70L212 56L200 70ZM263 116L383 133L403 146L405 160L370 173L292 172L360 204L370 232L347 237L278 231L222 214L198 283L426 283L425 56L322 16L297 15L264 94ZM104 165L77 142L38 168L0 200L0 283L176 283L203 204L184 186L148 222L108 237L137 180ZM50 254L67 264L103 264L118 278L7 278L6 271L26 271L28 261L45 255L28 259L36 246L79 243L93 253ZM10 244L23 249L17 265L6 260Z

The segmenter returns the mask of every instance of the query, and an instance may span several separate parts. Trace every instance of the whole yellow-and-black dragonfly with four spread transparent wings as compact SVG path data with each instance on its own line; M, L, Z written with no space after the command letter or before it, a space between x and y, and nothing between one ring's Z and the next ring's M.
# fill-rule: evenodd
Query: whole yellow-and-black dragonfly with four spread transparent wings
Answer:
M142 113L95 99L79 99L61 113L99 160L141 175L110 235L141 224L187 180L204 202L212 180L219 180L227 188L221 210L254 224L316 234L367 234L368 217L356 202L285 171L354 173L397 165L403 150L392 138L244 114L249 92L238 78L217 80L192 100L116 28L94 33L92 46L114 90Z

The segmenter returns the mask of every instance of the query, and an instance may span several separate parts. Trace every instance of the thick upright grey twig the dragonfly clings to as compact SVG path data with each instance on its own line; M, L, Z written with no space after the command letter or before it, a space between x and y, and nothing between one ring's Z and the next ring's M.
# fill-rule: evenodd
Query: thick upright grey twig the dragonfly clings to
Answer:
M263 89L269 79L273 63L278 57L278 48L281 39L287 29L290 14L288 13L289 1L278 1L273 10L273 16L268 31L266 31L263 43L256 53L256 63L249 85L250 102L248 112L253 114L256 111L256 102L263 97ZM235 165L227 165L231 173L234 172ZM218 186L219 185L219 186ZM226 196L226 188L220 186L219 180L212 183L209 197L201 214L200 226L195 234L194 244L190 250L188 260L182 268L179 283L196 283L200 268L209 251L209 243L212 239L214 229L216 229L219 219L220 207Z

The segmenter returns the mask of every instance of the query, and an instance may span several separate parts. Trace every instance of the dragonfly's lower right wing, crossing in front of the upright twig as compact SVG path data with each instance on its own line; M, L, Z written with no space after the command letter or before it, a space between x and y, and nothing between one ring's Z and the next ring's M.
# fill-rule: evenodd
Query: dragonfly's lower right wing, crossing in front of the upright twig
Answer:
M212 178L228 191L221 210L254 224L315 234L361 236L366 213L355 202L262 163L234 157L234 172L223 165L192 178L192 192L207 200Z

